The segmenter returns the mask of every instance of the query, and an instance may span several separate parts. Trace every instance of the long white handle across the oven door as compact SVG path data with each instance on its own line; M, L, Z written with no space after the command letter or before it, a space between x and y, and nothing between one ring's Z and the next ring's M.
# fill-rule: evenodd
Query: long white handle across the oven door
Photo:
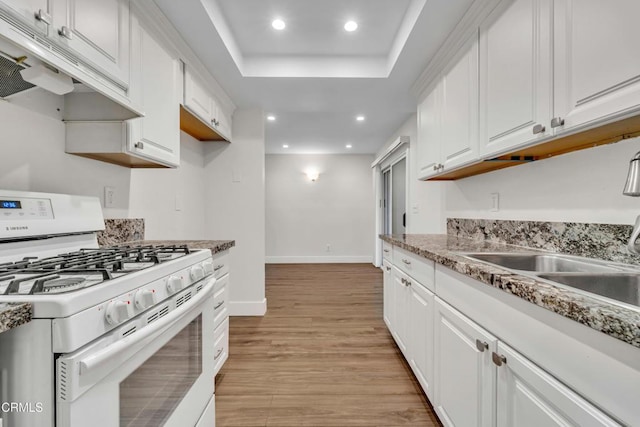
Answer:
M134 346L139 346L142 341L145 341L169 328L179 318L184 316L186 312L190 311L193 307L197 307L200 303L213 295L213 284L216 279L210 277L207 281L209 282L208 286L205 286L202 291L189 301L189 303L171 311L168 315L155 321L152 325L143 328L140 332L135 332L128 337L116 341L110 346L80 360L80 375L89 375L93 371L102 368L103 365L107 363L113 363L114 361L123 362L135 355L137 351L132 351L134 350Z

